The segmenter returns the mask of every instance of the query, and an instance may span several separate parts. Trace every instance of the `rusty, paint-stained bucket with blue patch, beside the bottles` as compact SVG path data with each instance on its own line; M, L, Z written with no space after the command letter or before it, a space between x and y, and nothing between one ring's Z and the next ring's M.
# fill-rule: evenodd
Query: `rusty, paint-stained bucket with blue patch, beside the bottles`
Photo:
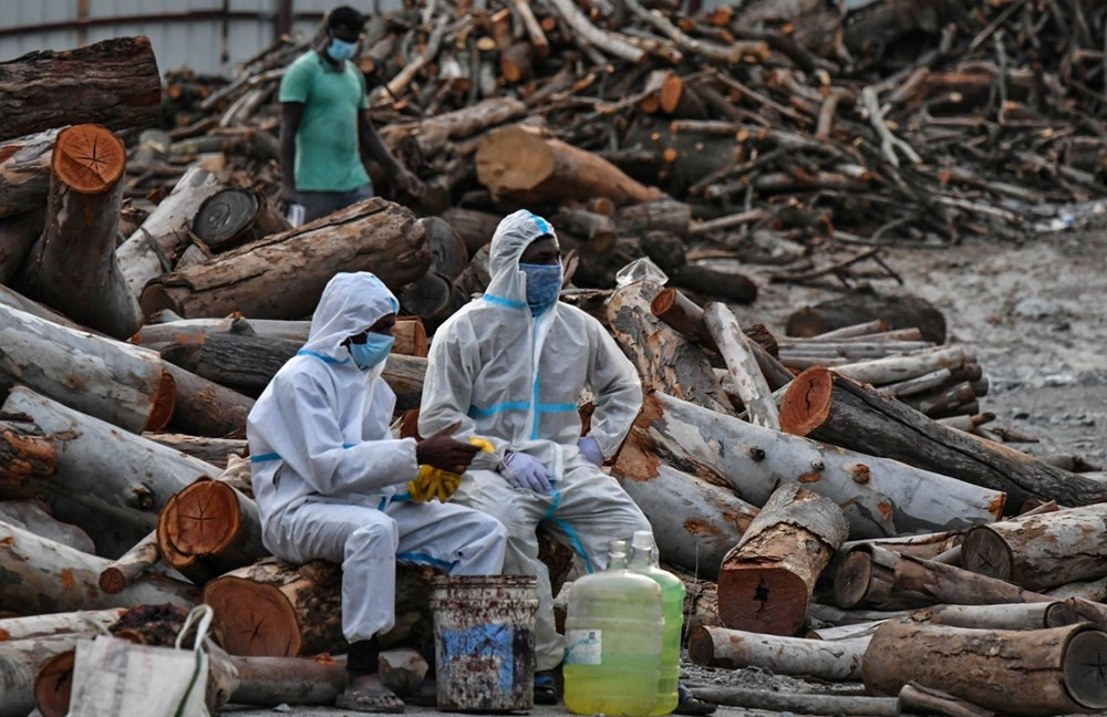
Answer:
M535 706L532 575L435 578L438 709L511 711Z

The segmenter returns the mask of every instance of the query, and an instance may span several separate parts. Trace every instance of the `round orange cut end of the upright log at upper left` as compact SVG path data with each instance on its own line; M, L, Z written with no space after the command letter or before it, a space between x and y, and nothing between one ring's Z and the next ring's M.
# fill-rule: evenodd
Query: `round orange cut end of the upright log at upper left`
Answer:
M126 149L101 125L74 125L58 135L52 165L58 178L82 194L110 189L126 168Z

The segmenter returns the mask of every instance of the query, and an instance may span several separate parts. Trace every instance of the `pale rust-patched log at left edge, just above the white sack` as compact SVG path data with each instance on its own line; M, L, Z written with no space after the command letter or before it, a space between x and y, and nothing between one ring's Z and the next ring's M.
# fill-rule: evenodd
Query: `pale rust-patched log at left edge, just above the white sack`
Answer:
M6 576L0 609L34 615L164 602L190 607L198 598L193 585L164 575L148 575L108 595L97 584L107 562L0 522L0 567Z

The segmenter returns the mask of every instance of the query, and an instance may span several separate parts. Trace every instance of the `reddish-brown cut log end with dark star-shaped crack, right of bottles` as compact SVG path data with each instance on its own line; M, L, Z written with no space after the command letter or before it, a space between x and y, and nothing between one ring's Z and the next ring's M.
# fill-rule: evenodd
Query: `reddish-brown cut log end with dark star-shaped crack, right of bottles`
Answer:
M807 584L783 568L724 568L718 593L728 595L718 601L718 619L731 630L794 635L807 616Z

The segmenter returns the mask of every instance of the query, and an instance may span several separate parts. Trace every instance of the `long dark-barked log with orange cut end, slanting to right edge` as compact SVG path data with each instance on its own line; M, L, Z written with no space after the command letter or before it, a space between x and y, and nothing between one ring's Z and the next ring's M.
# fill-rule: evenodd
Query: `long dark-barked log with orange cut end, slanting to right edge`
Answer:
M826 368L808 368L796 377L780 408L780 425L797 436L1002 490L1011 509L1030 499L1069 506L1107 499L1107 489L1095 481L943 426Z

